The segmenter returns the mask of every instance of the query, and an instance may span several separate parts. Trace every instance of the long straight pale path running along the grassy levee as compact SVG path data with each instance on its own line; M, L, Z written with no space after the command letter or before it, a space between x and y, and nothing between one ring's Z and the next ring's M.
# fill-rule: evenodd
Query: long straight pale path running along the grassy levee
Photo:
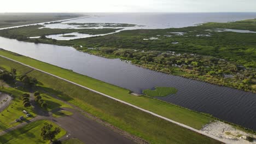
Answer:
M148 110L142 109L141 107L138 107L138 106L136 106L136 105L132 105L132 104L127 103L127 102L125 102L125 101L123 101L123 100L120 100L120 99L117 99L117 98L113 98L113 97L111 97L111 96L109 96L109 95L107 95L107 94L104 94L104 93L101 93L101 92L95 91L94 89L91 89L91 88L88 88L88 87L85 87L85 86L79 85L78 83L75 83L75 82L72 82L72 81L69 81L69 80L63 79L62 77L59 77L59 76L56 76L56 75L50 74L50 73L48 73L48 72L46 72L46 71L43 71L43 70L40 70L40 69L37 69L37 68L31 67L30 65L27 65L27 64L21 63L21 62L19 62L19 61L15 61L14 59L11 59L11 58L8 58L8 57L2 56L2 55L0 55L0 57L3 57L3 58L6 58L6 59L9 59L10 61L14 61L14 62L16 62L16 63L20 63L20 64L22 64L22 65L25 65L26 67L29 67L29 68L32 68L32 69L36 69L36 70L38 70L38 71L41 71L42 73L45 73L45 74L48 74L48 75L51 75L51 76L57 77L57 78L59 78L59 79L61 79L61 80L67 81L67 82L72 83L72 84L74 84L74 85L77 85L77 86L79 86L79 87L83 87L83 88L89 89L89 90L90 90L90 91L92 91L92 92L95 92L95 93L101 94L101 95L103 95L103 96L105 96L105 97L108 97L108 98L110 98L110 99L113 99L113 100L119 101L120 103L123 103L123 104L129 105L129 106L135 107L135 108L136 108L136 109L138 109L138 110L141 110L141 111L144 111L144 112L150 113L151 115L154 115L154 116L156 116L156 117L159 117L159 118L165 119L165 120L166 120L166 121L168 121L168 122L171 122L171 123L177 124L177 125L179 125L179 126L181 126L181 127L183 127L183 128L190 129L190 130L192 130L192 131L195 131L196 133L199 133L199 134L202 134L202 135L205 135L205 136L211 137L212 139L218 140L218 141L223 142L223 143L228 143L228 141L225 141L225 140L223 140L223 139L220 139L220 138L219 138L219 137L217 137L217 136L214 136L214 135L211 135L211 134L205 133L204 131L200 131L200 130L194 129L194 128L192 128L192 127L189 127L188 125L185 125L185 124L182 124L182 123L179 123L179 122L173 121L173 120L172 120L172 119L170 119L170 118L166 118L166 117L160 116L160 115L158 115L158 114L156 114L156 113L154 113L154 112L151 112L151 111L148 111Z

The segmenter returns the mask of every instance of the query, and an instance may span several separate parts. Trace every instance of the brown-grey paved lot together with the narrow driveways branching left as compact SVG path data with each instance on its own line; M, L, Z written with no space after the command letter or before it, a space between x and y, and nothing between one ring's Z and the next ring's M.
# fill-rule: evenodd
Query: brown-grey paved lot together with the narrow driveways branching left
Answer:
M33 98L32 98L33 99ZM93 121L92 119L85 117L82 113L78 112L74 109L69 108L60 108L53 110L51 112L45 112L40 109L37 105L34 105L34 101L31 101L34 106L34 110L38 113L38 116L35 118L23 122L15 127L9 128L7 130L1 131L0 136L6 133L9 133L12 130L24 127L26 124L38 121L40 119L48 119L53 121L63 129L67 131L67 135L62 137L61 140L65 140L65 138L77 138L84 143L94 144L94 143L135 143L132 140L127 139L126 137L115 133L114 131L108 129L104 125ZM60 110L66 110L73 113L71 116L65 117L53 117L52 113ZM68 137L67 137L68 136Z

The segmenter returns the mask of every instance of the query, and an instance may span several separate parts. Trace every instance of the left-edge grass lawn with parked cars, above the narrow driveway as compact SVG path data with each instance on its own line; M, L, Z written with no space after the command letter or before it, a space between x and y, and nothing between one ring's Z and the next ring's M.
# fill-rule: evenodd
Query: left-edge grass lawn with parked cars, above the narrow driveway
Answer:
M0 113L0 131L20 124L21 122L15 122L15 119L18 119L20 116L25 117L24 121L22 122L26 122L27 120L36 116L36 113L34 113L32 107L23 106L22 94L24 94L24 92L14 88L0 88L0 91L13 94L13 100L11 100L10 105ZM26 115L22 112L23 110L26 110L32 116L26 118Z

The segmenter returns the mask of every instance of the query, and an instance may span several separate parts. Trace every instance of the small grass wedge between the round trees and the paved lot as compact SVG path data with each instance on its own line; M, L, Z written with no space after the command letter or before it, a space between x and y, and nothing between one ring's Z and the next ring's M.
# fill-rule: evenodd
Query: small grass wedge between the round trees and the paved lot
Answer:
M51 111L54 109L58 109L60 107L68 107L68 108L73 108L72 106L63 103L61 100L59 99L55 99L47 94L44 93L40 93L40 96L42 97L42 99L45 101L45 103L47 104L47 111Z

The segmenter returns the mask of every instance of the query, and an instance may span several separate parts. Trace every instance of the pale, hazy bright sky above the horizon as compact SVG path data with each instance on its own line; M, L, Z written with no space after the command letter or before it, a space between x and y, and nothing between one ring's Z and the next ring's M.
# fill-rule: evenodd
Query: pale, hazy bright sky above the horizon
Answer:
M1 0L11 12L256 12L256 0Z

